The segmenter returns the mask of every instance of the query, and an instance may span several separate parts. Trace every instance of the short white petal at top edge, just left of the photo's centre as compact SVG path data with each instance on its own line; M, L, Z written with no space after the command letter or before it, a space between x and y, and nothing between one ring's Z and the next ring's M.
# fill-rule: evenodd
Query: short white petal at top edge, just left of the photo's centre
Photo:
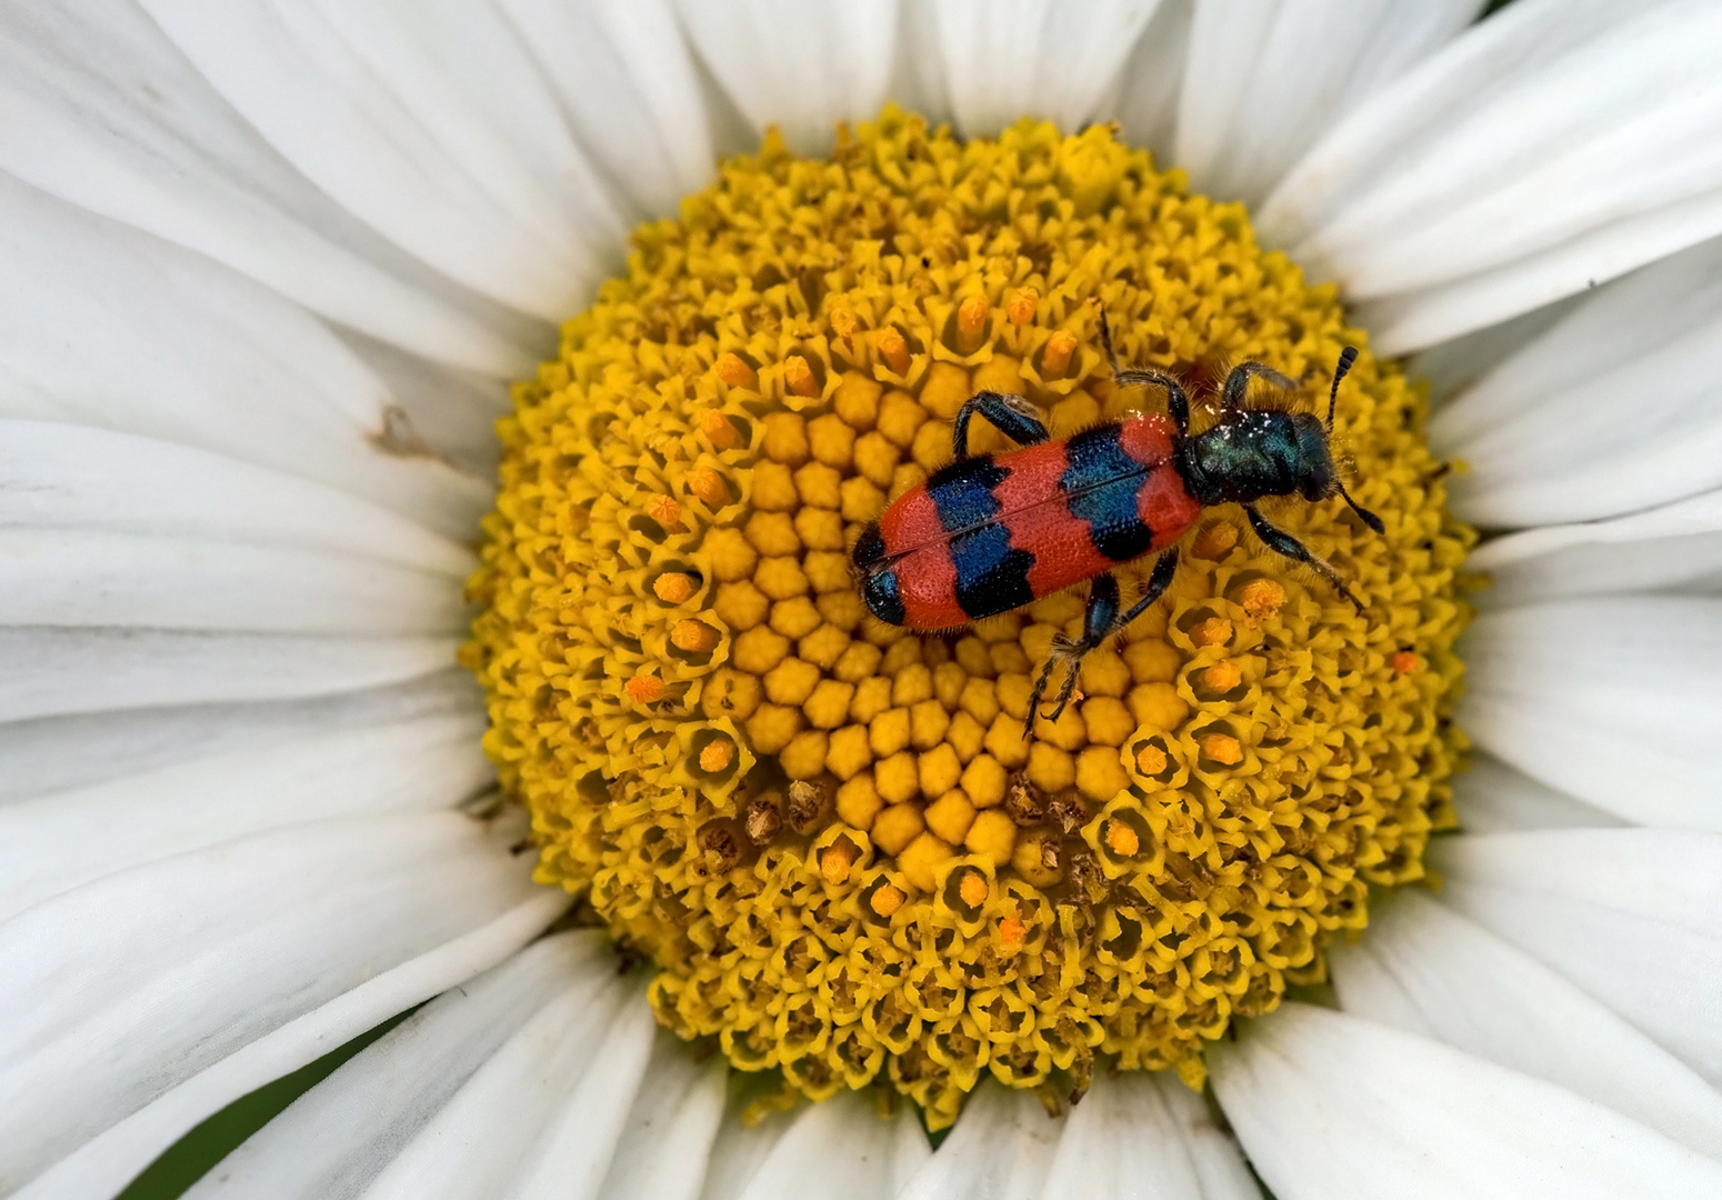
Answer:
M677 0L699 59L754 129L825 153L839 121L885 103L897 52L897 0Z

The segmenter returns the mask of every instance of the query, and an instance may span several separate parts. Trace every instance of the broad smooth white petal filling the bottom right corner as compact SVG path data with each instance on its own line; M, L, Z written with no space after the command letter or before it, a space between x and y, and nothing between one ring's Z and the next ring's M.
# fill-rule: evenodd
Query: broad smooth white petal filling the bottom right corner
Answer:
M1281 1200L1722 1195L1722 1164L1564 1088L1285 1004L1211 1054L1214 1093Z

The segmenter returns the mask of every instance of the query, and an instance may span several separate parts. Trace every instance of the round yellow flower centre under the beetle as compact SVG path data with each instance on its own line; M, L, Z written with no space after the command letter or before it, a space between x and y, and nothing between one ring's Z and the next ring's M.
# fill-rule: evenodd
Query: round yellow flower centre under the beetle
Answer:
M987 1071L1080 1092L1102 1055L1199 1085L1204 1040L1319 981L1369 885L1421 876L1452 823L1472 535L1422 396L1367 353L1341 389L1384 535L1338 499L1266 504L1362 615L1205 510L1030 739L1081 589L923 637L866 613L847 547L949 461L976 391L1054 437L1164 405L1111 384L1100 306L1197 429L1243 360L1319 406L1366 344L1333 289L1107 129L963 143L895 110L830 160L768 138L634 244L515 391L470 585L539 878L656 961L665 1024L796 1092L889 1081L940 1128Z

